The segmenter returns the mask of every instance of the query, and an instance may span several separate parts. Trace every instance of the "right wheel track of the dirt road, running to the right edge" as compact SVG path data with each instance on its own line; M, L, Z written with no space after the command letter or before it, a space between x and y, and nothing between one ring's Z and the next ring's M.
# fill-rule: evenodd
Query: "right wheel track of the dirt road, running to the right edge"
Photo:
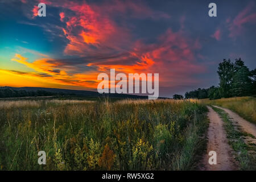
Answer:
M254 125L253 123L250 123L249 121L246 121L245 119L241 118L240 115L238 115L237 113L234 113L229 109L219 107L219 106L214 106L214 107L224 110L226 113L229 114L230 118L233 118L234 121L237 122L238 125L240 125L243 131L245 131L246 133L250 133L254 135L254 137L256 137L256 125Z

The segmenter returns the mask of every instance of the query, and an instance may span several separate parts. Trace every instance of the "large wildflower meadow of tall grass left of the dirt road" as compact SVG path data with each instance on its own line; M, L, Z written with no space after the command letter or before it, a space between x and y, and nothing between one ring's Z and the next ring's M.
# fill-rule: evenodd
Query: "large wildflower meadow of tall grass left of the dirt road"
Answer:
M193 100L0 101L0 167L195 169L206 113ZM46 165L38 164L38 151L46 151Z

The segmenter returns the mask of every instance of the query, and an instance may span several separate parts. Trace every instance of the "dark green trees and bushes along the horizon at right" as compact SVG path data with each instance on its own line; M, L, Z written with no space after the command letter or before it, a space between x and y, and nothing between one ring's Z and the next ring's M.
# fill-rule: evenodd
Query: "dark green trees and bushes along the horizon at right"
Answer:
M234 63L224 59L218 64L218 86L210 88L199 88L185 93L185 98L209 98L210 100L228 97L242 97L256 95L256 68L249 70L244 61L236 59ZM181 96L175 94L174 98L180 99Z

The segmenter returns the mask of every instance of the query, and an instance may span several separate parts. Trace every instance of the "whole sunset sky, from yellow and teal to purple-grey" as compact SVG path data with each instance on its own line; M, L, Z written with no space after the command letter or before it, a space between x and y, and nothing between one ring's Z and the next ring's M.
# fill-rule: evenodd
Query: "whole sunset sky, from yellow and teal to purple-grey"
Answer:
M97 90L115 68L159 73L172 97L217 86L223 59L254 69L255 32L255 1L0 0L0 86Z

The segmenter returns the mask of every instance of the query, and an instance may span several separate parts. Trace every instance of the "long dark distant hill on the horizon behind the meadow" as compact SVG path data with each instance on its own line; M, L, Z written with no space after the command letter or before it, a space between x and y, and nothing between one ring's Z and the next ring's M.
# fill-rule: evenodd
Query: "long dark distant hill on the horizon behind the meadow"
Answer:
M88 90L70 90L42 87L0 87L0 97L31 97L31 96L86 96L86 97L118 97L118 98L148 98L147 96L137 96L131 94L108 93L100 94Z

